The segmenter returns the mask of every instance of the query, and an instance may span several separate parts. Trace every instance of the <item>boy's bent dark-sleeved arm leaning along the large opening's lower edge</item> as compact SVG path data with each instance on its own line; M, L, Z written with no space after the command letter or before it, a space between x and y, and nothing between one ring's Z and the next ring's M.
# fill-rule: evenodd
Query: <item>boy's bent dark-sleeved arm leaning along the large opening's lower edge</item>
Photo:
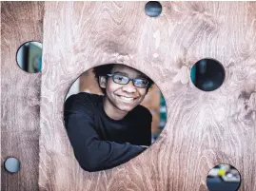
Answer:
M146 149L130 143L101 141L93 126L90 103L84 98L73 98L65 103L65 125L75 158L84 170L93 172L115 167Z

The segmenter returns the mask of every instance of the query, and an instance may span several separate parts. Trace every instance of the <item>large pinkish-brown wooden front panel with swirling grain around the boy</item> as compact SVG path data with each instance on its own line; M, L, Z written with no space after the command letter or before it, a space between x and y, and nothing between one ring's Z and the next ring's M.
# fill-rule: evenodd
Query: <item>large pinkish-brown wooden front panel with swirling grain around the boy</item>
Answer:
M218 163L240 171L240 191L256 190L256 3L161 3L157 18L145 14L145 2L46 3L40 190L207 191ZM226 69L212 92L189 79L206 57ZM108 63L135 67L160 87L167 125L138 157L89 173L73 156L64 99L81 73Z

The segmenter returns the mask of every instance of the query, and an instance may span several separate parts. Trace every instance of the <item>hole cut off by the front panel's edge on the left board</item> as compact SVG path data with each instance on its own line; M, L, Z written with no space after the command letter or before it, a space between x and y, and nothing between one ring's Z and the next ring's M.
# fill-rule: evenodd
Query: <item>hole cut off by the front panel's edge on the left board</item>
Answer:
M17 51L16 61L20 68L29 73L42 70L42 43L30 41L23 44Z

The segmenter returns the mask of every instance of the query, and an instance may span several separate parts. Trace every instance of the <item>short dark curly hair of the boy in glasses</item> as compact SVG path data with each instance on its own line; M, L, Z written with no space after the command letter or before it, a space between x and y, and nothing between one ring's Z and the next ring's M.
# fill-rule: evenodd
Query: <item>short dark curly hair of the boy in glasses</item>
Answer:
M95 75L95 79L98 82L98 85L104 94L106 94L106 88L103 88L100 86L100 76L107 77L107 74L109 74L111 72L112 68L115 67L116 65L121 65L121 64L101 65L98 67L94 67L92 70ZM126 65L123 65L123 66L126 66ZM126 66L126 67L128 67L128 66ZM131 67L131 68L133 68L133 67ZM144 74L144 75L145 75L146 79L148 79L148 89L149 89L154 84L154 82L146 74ZM148 91L148 89L147 89L147 91Z

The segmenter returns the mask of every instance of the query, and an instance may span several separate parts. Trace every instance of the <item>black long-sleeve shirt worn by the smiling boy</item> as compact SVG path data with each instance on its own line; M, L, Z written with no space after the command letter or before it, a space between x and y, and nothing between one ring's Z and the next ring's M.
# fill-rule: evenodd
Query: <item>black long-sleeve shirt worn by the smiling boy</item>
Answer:
M65 103L64 120L75 158L89 172L115 167L151 143L152 116L137 105L122 120L108 117L103 96L81 92Z

